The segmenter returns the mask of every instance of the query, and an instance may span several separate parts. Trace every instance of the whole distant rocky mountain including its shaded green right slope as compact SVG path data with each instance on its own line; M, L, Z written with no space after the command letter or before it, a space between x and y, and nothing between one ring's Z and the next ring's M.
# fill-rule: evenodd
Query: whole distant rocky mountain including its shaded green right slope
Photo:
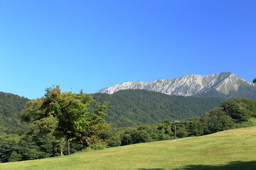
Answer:
M126 89L144 89L176 96L256 98L256 86L230 72L206 76L188 74L186 77L159 79L152 82L129 81L101 89L97 93L114 94Z

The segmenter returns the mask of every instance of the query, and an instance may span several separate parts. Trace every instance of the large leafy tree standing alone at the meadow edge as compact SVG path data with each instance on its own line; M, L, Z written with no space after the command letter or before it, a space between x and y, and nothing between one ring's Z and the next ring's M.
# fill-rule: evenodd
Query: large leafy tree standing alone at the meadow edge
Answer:
M61 92L59 86L52 86L46 89L45 96L26 103L22 119L31 121L31 129L38 134L65 138L68 150L71 141L97 149L104 145L100 133L110 128L105 108L83 91Z

